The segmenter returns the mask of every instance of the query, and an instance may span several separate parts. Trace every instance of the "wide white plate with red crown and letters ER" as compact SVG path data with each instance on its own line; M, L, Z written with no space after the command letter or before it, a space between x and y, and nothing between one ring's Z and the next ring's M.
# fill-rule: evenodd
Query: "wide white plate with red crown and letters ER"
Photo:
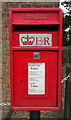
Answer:
M20 34L20 46L52 46L52 34Z

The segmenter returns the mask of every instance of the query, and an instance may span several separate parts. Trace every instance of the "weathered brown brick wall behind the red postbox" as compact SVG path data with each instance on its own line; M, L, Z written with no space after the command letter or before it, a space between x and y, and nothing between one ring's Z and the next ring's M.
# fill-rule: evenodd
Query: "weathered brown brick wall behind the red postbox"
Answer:
M2 118L29 118L27 111L12 111L10 109L10 47L9 47L9 9L10 8L53 8L59 7L58 2L1 2L2 11ZM2 8L2 9L1 9ZM1 19L1 18L0 18ZM2 26L1 26L2 25ZM1 45L0 45L1 46ZM0 78L1 79L1 78ZM1 84L1 83L0 83ZM62 118L63 107L60 111L41 111L41 118Z

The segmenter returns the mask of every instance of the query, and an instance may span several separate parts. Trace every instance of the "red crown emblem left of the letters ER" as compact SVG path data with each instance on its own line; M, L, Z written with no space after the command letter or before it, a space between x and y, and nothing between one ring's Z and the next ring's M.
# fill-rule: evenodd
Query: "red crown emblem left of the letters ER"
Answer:
M21 38L21 42L23 45L32 45L34 40L34 37L29 37L29 35Z

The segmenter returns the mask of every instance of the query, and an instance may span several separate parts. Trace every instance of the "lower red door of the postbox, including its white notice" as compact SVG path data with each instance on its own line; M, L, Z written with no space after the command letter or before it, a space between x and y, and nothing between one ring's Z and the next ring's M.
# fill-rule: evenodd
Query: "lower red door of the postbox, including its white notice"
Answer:
M56 106L57 52L14 51L13 55L14 106Z

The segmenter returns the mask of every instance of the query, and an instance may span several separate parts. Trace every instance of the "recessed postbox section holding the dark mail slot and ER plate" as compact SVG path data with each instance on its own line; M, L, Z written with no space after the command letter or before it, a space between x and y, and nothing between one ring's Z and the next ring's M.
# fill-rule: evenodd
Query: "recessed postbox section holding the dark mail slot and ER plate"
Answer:
M34 29L33 29L34 28ZM59 25L14 25L13 46L58 46ZM29 32L30 30L30 32ZM39 32L40 31L40 32Z

